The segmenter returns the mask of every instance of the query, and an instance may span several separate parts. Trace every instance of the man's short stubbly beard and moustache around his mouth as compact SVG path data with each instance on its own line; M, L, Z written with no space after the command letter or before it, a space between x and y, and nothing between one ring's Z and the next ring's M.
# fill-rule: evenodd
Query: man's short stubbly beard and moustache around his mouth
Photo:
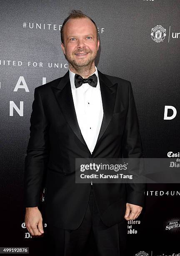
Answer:
M77 53L81 53L81 52L88 52L88 57L86 58L82 58L82 59L76 59L75 54ZM93 61L95 61L95 58L97 56L97 51L78 51L75 52L73 54L66 54L65 58L67 59L67 61L69 62L69 64L72 65L72 67L74 68L81 68L81 67L87 67L87 66L91 66Z

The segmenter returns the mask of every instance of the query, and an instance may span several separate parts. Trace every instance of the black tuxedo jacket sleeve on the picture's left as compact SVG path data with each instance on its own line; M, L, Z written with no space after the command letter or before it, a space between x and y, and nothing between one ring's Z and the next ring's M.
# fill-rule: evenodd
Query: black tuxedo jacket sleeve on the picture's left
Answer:
M40 189L49 156L48 127L40 92L35 88L30 117L30 138L25 157L25 207L36 207L40 203Z

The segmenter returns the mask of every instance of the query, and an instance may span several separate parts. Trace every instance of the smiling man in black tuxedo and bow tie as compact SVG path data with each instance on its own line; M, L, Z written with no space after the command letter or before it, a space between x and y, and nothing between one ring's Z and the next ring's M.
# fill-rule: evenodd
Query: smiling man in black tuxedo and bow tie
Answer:
M144 201L144 184L75 183L76 158L141 158L131 83L95 67L95 22L72 10L61 28L67 73L35 88L25 158L25 224L44 233L39 211L46 175L45 215L52 255L83 255L93 235L97 255L125 255L127 220Z

